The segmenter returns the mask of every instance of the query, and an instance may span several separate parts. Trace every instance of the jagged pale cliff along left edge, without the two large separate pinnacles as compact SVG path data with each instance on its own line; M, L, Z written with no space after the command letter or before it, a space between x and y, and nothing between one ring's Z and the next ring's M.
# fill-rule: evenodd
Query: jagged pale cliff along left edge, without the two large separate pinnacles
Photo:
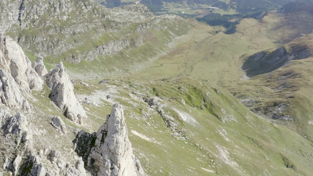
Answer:
M38 72L44 73L46 69L43 58L37 61L34 67L38 68ZM14 176L86 175L82 160L79 159L74 166L59 154L57 158L50 159L52 165L57 163L56 168L52 169L49 164L43 163L51 147L45 146L45 152L37 151L36 145L41 144L38 140L43 137L38 132L39 126L34 124L42 124L45 118L40 119L38 114L43 112L37 107L33 108L27 100L34 100L31 90L41 91L43 80L32 68L22 48L7 36L0 36L0 63L0 148L3 151L0 156L3 164L1 168ZM36 118L32 118L33 116ZM65 123L60 117L55 119L51 123L66 133Z

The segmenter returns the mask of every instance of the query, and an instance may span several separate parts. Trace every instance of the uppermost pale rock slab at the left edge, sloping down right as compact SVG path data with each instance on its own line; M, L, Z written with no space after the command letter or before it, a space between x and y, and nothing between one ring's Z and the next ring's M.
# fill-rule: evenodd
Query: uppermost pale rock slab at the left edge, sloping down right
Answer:
M9 72L22 91L42 88L43 80L31 67L22 48L6 36L0 36L0 69Z

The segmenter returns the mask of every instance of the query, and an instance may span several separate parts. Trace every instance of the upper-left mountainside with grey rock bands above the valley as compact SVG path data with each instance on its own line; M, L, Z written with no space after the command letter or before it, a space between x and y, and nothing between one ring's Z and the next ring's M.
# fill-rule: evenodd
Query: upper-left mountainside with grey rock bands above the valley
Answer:
M91 0L53 0L48 4L6 0L0 6L0 22L5 26L1 33L32 53L30 58L33 54L48 56L48 68L60 61L82 62L81 72L89 74L116 70L112 66L116 60L121 63L120 72L133 71L133 65L144 67L192 25L177 16L155 16L140 4L106 9ZM136 60L129 59L133 56ZM99 64L106 68L94 67Z

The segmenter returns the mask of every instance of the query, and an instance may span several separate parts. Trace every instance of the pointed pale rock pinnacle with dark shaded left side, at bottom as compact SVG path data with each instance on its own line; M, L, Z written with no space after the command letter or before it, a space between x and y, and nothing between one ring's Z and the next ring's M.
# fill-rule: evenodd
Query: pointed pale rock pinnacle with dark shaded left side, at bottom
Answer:
M96 133L88 165L91 159L99 167L98 176L143 175L140 162L133 154L123 109L119 104L113 105L111 115Z

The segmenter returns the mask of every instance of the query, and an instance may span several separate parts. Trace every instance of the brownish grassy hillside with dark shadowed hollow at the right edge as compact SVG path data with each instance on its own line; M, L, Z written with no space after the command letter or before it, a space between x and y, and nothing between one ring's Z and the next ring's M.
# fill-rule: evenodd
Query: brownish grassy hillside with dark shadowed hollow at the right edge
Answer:
M270 72L259 76L252 75L254 77L250 80L238 82L238 85L226 85L227 89L252 111L287 125L309 140L312 140L313 117L309 115L311 109L307 107L311 104L311 98L306 94L310 94L312 86L311 41L312 34L300 37L279 49L287 49L285 54L269 57L277 53L275 50L262 57L261 62L255 60L254 64L252 58L260 53L250 56L246 61L250 65L246 67L251 68L252 74L265 73L268 69L271 69ZM290 58L290 61L284 58ZM262 64L264 65L261 66ZM249 70L247 73L249 74Z

